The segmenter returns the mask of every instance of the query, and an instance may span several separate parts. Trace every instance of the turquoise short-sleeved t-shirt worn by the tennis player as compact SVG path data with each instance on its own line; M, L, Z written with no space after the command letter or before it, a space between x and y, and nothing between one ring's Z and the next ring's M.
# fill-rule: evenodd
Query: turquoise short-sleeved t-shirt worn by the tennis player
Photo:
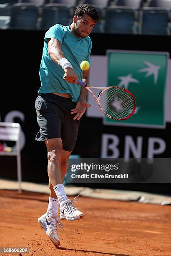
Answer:
M38 93L70 93L71 100L78 102L80 96L80 86L71 84L63 79L64 70L55 63L48 54L48 38L56 38L62 43L64 56L72 64L78 79L82 79L83 71L80 69L80 63L87 60L91 63L91 38L79 38L70 32L68 26L56 24L45 33L43 55L40 64L41 87Z

